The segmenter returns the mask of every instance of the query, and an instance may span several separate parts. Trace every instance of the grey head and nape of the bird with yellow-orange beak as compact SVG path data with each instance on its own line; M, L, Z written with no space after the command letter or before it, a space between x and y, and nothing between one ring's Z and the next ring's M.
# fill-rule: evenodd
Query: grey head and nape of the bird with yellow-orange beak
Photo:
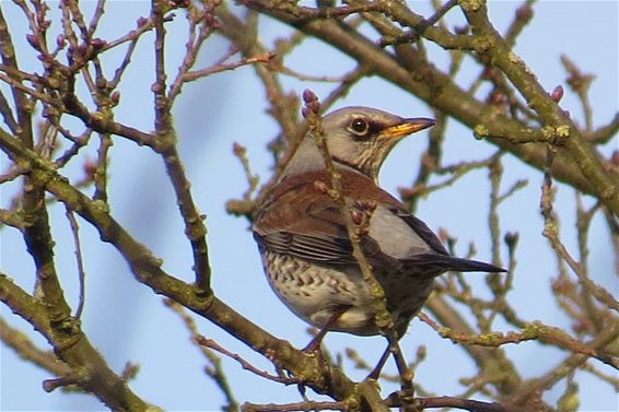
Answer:
M322 119L325 141L336 167L355 169L376 181L383 162L404 137L434 125L428 118L402 118L372 107L344 107ZM307 133L282 178L325 167L314 137Z

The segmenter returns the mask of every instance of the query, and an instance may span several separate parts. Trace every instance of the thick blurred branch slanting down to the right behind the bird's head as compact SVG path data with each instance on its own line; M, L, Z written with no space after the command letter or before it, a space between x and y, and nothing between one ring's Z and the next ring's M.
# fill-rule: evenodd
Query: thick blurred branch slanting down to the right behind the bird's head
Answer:
M489 141L493 144L509 151L538 169L541 169L545 163L545 153L540 150L540 146L537 144L515 144L514 142L547 140L549 137L552 138L557 134L561 134L559 132L563 131L563 129L560 129L563 122L550 122L550 125L553 125L551 126L552 130L534 130L529 125L523 125L503 114L488 110L484 104L460 90L448 76L440 72L428 61L421 60L418 61L418 64L408 64L405 67L402 61L399 61L385 50L378 49L374 43L355 31L349 30L346 23L336 23L329 20L306 21L291 11L281 10L273 1L268 0L244 0L242 3L332 45L343 54L358 60L361 64L366 67L370 72L414 94L433 107L455 117L471 129L477 128L478 136L488 137ZM412 20L410 25L414 25L422 20L414 19L410 11L398 2L389 2L388 4L389 15L399 16L401 14L404 17L409 17ZM430 28L423 33L424 37L428 36L429 31ZM428 36L428 38L430 37ZM502 52L504 51L503 49ZM505 64L510 63L507 57L511 55L509 52L504 52L503 55L497 51L492 52L499 55L499 57L502 56L501 58ZM545 91L544 93L546 94ZM549 98L548 101L552 105L556 105L556 103ZM563 115L561 115L561 118L562 116ZM559 130L557 130L558 128ZM569 129L569 132L570 136L577 133L577 131L572 128ZM501 139L498 137L501 137ZM512 141L504 139L506 137L510 137ZM591 152L585 151L586 153L583 153L581 160L577 153L584 149L582 145L577 144L579 142L569 143L570 148L568 148L573 154L573 158L577 158L577 164L567 152L561 152L552 167L554 178L565 181L584 192L593 193L600 199L606 198L607 204L615 204L616 201L619 202L619 192L616 193L611 190L614 184L605 186L608 179L604 177L608 175L611 181L619 181L619 175L611 172L600 174L600 168L598 167L599 161L593 161ZM592 185L593 180L589 181L592 178L600 185ZM603 187L609 190L600 192L598 189ZM619 211L619 204L616 205L617 207L612 207L612 210L617 212Z

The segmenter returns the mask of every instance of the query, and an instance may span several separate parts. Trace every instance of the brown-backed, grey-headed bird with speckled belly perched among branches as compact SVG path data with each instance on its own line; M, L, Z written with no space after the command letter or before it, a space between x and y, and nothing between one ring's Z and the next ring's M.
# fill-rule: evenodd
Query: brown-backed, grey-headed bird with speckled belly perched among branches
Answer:
M434 120L346 107L325 116L322 125L349 213L370 216L360 245L399 338L441 273L504 271L449 256L423 222L378 187L381 165L395 144ZM272 290L299 317L323 333L378 334L372 294L352 255L341 209L325 189L330 183L308 133L258 207L254 237Z

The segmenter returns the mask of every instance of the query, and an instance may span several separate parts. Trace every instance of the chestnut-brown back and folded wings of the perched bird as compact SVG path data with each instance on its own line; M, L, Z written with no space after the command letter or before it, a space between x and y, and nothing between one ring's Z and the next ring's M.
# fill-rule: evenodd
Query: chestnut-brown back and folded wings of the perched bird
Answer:
M254 236L259 247L313 261L354 263L352 245L339 207L324 189L328 181L326 173L312 172L289 177L273 188L254 221ZM448 257L428 226L408 213L399 201L370 178L342 170L342 192L348 198L385 205L430 246L430 255ZM370 236L362 237L362 247L370 261L377 259L384 262L388 259Z

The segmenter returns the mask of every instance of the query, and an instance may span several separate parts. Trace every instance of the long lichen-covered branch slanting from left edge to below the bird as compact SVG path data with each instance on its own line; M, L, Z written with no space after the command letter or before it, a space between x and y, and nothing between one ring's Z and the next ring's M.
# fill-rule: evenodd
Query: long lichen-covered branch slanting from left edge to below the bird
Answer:
M279 368L290 370L293 376L302 378L305 385L312 387L318 393L329 393L336 400L343 400L357 392L358 386L341 370L326 367L312 354L297 351L289 342L276 339L238 315L212 294L205 294L202 290L171 276L162 269L161 259L133 239L113 219L107 209L101 208L97 202L69 185L67 179L60 176L49 164L40 161L34 152L22 148L1 129L0 149L13 158L30 163L36 170L37 177L46 183L46 188L50 193L90 222L97 229L103 242L114 245L140 283L211 320L236 339L267 356Z

